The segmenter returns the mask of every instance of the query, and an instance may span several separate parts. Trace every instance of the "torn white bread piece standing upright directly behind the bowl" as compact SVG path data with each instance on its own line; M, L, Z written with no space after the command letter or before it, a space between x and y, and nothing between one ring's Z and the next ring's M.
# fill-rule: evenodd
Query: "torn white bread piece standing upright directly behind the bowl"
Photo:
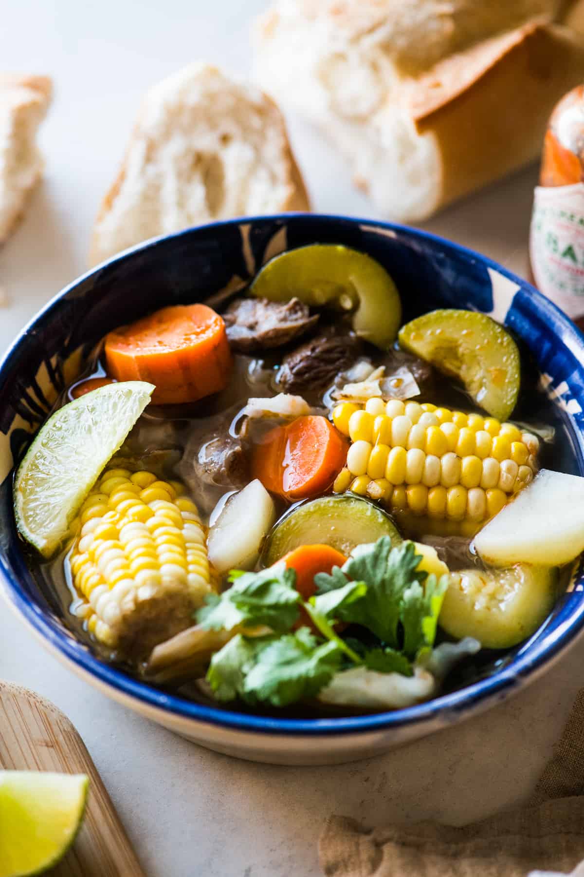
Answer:
M145 96L89 260L191 225L288 210L309 203L278 107L255 86L193 63Z

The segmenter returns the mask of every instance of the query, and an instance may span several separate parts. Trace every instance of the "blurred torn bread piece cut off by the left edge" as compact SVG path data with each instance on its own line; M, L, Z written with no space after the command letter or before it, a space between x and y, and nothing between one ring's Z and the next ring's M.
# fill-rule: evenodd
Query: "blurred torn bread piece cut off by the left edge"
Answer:
M0 74L0 243L22 217L42 175L36 135L52 89L47 76Z

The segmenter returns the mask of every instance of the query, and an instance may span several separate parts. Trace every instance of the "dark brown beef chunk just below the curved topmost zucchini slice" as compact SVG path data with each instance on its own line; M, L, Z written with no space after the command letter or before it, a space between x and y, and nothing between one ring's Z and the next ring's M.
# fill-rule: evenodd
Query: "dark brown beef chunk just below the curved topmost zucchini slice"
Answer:
M278 371L278 386L286 393L296 394L322 389L355 362L361 349L362 343L356 335L334 331L317 335L285 355Z

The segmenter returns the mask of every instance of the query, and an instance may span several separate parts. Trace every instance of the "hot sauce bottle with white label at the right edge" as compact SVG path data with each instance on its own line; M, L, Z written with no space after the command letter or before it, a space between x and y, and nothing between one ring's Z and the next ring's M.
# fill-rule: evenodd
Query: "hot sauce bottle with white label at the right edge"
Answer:
M530 260L538 289L584 328L584 85L562 97L548 123Z

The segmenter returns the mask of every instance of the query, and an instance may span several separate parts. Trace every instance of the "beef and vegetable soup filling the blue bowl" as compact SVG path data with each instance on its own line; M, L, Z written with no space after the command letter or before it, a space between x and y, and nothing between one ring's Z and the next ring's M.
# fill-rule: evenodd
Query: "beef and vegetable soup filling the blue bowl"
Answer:
M402 325L375 260L301 247L221 312L110 332L18 469L18 529L75 634L152 684L398 709L491 672L584 547L537 381L484 314Z

